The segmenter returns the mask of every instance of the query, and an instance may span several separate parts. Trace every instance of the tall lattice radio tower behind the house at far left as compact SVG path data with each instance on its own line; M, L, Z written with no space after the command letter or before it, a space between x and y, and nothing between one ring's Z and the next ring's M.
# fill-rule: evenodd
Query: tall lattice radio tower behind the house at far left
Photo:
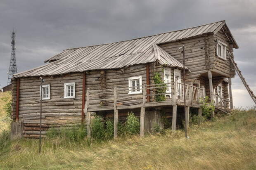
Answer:
M17 73L17 65L16 65L16 55L15 55L15 31L13 30L11 33L12 38L12 53L11 53L11 60L10 60L10 66L8 71L8 80L7 85L11 84L12 77L15 73Z

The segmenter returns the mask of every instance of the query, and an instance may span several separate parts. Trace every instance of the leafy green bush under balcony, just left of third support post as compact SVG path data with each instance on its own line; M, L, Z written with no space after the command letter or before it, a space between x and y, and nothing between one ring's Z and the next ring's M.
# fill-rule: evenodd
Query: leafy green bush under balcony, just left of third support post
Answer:
M126 132L129 135L137 134L140 132L140 122L133 112L128 113L128 117L125 123Z

